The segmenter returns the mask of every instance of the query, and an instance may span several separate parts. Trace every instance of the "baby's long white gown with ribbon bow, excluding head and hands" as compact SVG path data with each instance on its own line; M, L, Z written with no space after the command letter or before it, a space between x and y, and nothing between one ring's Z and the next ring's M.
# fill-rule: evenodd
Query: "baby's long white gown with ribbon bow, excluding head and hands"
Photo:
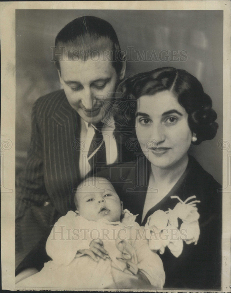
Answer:
M138 280L138 270L153 288L163 288L165 273L161 259L150 250L144 227L125 210L122 222L88 221L69 211L55 223L46 243L52 258L35 275L16 284L20 288L102 289L116 288L127 279ZM93 239L101 239L108 257L96 262L86 254ZM126 288L124 288L126 289Z

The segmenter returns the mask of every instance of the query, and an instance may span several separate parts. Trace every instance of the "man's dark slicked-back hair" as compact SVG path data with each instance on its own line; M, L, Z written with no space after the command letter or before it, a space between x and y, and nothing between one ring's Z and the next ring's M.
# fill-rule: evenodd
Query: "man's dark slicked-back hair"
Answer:
M109 51L110 57L105 54L105 58L110 58L112 66L119 74L124 55L121 54L119 41L112 25L95 16L78 17L65 25L55 38L55 64L60 71L59 61L63 58L60 52L64 52L64 56L68 55L71 60L86 61L92 53L106 50Z

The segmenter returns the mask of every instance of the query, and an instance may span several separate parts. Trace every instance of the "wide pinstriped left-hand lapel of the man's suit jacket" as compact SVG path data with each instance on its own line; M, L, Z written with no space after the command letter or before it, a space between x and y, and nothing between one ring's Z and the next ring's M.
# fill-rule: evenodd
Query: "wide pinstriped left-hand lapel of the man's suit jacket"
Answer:
M56 208L65 214L73 205L72 192L81 180L78 143L81 123L78 113L68 103L64 92L59 97L48 123L50 130L46 140L49 141L49 148L45 150L45 162L49 161L46 169L48 180L52 182L47 186Z

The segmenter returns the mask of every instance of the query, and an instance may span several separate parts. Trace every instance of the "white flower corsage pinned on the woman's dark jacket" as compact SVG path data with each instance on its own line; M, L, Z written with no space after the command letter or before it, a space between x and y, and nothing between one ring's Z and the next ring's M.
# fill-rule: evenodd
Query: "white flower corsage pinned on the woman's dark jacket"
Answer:
M149 247L152 250L164 253L166 246L168 246L171 253L178 257L183 250L183 241L186 244L197 244L199 239L199 213L197 212L196 203L199 200L196 196L187 198L184 202L178 196L171 196L177 198L178 204L174 209L169 209L164 212L158 210L148 217L145 229L147 231L147 239L149 240ZM178 218L182 220L179 227Z

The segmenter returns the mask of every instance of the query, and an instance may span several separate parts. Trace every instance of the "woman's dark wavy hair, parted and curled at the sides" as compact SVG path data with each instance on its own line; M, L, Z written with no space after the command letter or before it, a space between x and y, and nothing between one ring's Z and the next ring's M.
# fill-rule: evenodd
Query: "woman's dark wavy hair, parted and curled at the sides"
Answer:
M121 115L128 115L127 127L134 128L137 99L143 95L154 95L166 90L178 98L179 104L188 113L188 125L197 136L197 141L192 144L213 139L218 123L215 122L217 114L212 109L210 96L204 93L202 84L192 74L173 67L161 67L138 73L121 82L117 93L128 101L128 112L117 113L115 121L119 120Z

